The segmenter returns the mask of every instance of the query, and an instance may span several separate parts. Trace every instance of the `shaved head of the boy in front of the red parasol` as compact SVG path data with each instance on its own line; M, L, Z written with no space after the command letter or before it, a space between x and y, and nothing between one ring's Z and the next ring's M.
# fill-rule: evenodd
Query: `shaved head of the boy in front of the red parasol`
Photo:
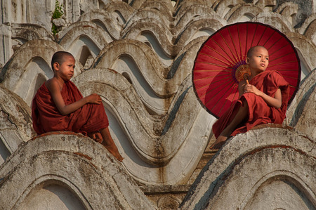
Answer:
M258 46L254 48L253 53L249 55L246 63L249 65L251 71L258 73L263 72L269 64L269 53L265 48Z

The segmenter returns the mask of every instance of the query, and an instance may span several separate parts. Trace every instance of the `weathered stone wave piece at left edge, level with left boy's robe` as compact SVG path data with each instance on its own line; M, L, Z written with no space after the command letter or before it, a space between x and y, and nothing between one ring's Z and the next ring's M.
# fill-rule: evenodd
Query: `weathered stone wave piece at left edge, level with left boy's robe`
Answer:
M18 149L18 145L33 138L31 109L15 93L0 84L0 164Z

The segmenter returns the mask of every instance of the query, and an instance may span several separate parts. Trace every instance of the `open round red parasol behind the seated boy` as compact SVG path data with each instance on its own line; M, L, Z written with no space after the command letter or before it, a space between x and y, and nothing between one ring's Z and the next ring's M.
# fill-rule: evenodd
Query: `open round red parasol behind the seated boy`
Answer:
M202 105L220 117L239 98L236 70L246 67L246 53L252 46L264 46L269 53L266 71L277 70L290 84L289 102L301 80L301 65L293 44L277 29L259 22L238 22L212 34L202 44L192 81Z

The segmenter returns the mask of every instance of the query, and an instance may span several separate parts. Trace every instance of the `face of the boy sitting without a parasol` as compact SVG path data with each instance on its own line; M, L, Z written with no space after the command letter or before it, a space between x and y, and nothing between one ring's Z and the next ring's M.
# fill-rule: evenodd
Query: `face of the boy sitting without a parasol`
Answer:
M74 57L71 55L65 55L65 58L63 59L63 62L56 66L55 70L56 73L64 80L68 81L72 79L74 76L74 64L75 60Z

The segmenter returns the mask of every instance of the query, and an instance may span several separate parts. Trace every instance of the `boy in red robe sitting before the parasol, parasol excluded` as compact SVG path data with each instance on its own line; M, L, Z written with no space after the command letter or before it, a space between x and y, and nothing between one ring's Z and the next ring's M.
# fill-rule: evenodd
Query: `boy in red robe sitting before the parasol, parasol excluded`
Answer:
M245 133L259 124L282 124L287 112L289 84L279 72L265 71L269 54L265 47L254 46L247 53L251 75L249 84L240 81L239 100L213 124L216 141L211 149L220 149L229 136Z

